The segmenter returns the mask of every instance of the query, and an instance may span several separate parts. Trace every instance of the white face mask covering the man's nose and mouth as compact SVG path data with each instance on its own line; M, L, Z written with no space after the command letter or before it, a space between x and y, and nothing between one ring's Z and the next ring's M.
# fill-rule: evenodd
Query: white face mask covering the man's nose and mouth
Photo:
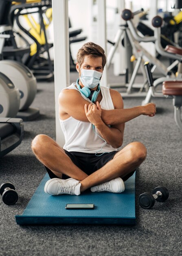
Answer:
M79 68L81 69L81 67ZM101 76L102 72L81 69L80 80L85 87L93 89L99 84Z

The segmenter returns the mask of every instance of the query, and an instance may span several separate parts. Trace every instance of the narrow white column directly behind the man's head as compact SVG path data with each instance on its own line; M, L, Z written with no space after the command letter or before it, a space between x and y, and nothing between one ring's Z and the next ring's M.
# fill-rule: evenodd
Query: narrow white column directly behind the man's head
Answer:
M97 38L98 45L100 45L107 56L107 35L106 35L106 1L97 0L98 4L98 15L97 15ZM107 68L105 65L100 85L107 87Z

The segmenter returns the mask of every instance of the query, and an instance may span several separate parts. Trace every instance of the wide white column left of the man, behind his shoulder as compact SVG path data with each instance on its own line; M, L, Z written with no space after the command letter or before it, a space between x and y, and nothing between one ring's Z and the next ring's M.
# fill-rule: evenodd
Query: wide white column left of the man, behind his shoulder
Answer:
M64 135L59 123L59 92L70 85L68 0L52 0L54 31L54 74L55 74L55 116L56 141L62 147Z

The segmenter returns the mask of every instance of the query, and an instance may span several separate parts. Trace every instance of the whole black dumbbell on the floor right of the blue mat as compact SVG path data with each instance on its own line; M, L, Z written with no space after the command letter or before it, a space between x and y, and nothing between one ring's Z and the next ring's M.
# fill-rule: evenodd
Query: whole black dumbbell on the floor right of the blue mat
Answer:
M155 200L164 202L169 198L169 191L164 186L157 186L151 193L143 193L139 196L138 201L143 209L150 209L154 206Z

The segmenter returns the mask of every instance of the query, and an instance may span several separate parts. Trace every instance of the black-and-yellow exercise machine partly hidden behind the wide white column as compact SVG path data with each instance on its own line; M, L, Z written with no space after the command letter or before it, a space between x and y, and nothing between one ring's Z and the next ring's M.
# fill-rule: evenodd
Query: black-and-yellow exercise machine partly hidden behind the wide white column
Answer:
M53 70L54 63L50 60L49 49L53 47L53 43L48 43L46 36L46 29L48 22L52 20L51 1L26 1L24 4L12 5L9 13L9 22L13 25L14 18L16 19L18 27L28 35L35 43L31 47L30 54L26 54L22 58L22 62L27 65L32 71L37 80L52 81L54 79ZM35 9L37 7L37 10ZM45 9L44 9L45 8ZM28 11L25 11L29 9ZM32 11L30 11L32 9ZM31 13L39 13L40 24L35 21ZM20 16L24 17L29 30L25 29L20 22ZM29 19L31 16L32 21ZM47 22L48 20L48 22ZM69 19L69 50L70 50L70 71L76 71L75 61L71 54L71 44L86 40L86 36L78 36L81 34L82 29L71 29L71 22ZM29 42L20 35L27 45ZM48 58L45 59L42 54L46 52Z

